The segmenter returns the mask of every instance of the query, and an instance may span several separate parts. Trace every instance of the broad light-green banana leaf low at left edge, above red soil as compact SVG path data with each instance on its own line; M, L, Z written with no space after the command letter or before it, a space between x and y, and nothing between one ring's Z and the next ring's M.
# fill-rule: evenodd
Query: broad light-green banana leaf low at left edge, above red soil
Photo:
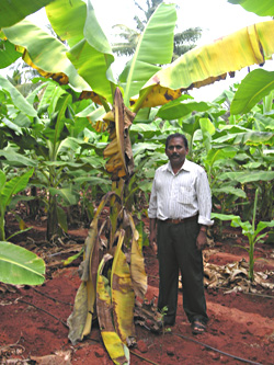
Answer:
M42 285L45 262L26 249L0 241L0 282L13 285Z

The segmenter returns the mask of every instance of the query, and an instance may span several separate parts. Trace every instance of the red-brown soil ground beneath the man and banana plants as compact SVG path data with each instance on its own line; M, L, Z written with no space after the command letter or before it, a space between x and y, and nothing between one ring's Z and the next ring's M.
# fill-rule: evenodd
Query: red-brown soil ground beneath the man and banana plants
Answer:
M0 283L0 364L113 364L98 326L76 345L68 340L66 321L80 284L77 272L80 261L64 267L61 260L81 247L87 232L87 229L69 231L70 241L58 250L57 243L48 247L43 241L43 227L24 233L24 242L20 243L34 249L47 262L46 281L41 287ZM218 265L242 258L248 261L247 252L233 246L242 243L240 240L233 235L216 240L215 247L205 252L206 261ZM71 252L60 254L68 247ZM265 259L258 261L256 271L274 271L273 252L273 243L256 246L256 256ZM152 299L158 296L158 262L149 248L144 253L149 283L147 297ZM274 283L273 273L271 282ZM156 334L136 326L137 346L132 350L130 363L274 364L274 292L259 286L258 289L255 294L225 294L225 289L206 287L209 322L201 335L192 334L180 295L176 323L170 331Z

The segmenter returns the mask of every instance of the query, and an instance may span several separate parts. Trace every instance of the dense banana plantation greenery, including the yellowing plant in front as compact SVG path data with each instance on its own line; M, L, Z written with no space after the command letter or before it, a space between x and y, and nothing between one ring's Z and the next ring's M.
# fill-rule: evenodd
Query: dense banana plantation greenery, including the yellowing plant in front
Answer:
M271 0L228 2L274 16ZM43 7L55 35L26 19ZM214 231L231 226L248 240L250 283L255 243L263 240L273 252L274 71L263 65L274 54L274 22L171 62L176 9L162 2L115 78L92 0L2 0L0 8L0 68L23 59L37 71L24 93L0 76L0 282L47 285L43 258L20 246L20 237L31 235L30 217L46 216L46 240L57 246L71 227L88 228L67 263L80 260L67 337L72 345L83 342L98 320L110 363L134 363L136 311L152 312L145 221L170 134L185 134L187 158L207 172ZM252 65L261 67L213 102L189 93ZM161 315L151 316L161 329Z

